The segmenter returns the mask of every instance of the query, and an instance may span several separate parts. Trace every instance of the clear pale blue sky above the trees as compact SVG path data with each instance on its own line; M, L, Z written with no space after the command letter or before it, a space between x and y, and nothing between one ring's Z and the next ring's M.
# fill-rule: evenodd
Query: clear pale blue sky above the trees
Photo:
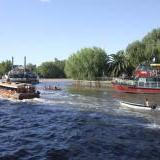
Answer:
M39 65L93 46L116 53L159 18L159 0L0 0L0 61Z

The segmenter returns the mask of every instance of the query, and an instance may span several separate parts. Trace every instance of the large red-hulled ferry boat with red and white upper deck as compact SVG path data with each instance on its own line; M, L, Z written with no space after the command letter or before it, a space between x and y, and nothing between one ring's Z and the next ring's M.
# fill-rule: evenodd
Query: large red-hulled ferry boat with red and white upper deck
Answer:
M160 93L160 64L140 64L133 79L115 78L115 90L127 93Z

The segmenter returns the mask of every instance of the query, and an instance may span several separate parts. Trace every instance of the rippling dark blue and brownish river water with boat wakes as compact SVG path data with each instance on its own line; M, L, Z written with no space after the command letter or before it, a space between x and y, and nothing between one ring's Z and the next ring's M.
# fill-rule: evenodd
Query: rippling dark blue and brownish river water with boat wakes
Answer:
M41 98L0 98L0 160L159 160L160 113L119 106L118 99L160 104L160 95L73 89L70 82L43 82L61 91Z

